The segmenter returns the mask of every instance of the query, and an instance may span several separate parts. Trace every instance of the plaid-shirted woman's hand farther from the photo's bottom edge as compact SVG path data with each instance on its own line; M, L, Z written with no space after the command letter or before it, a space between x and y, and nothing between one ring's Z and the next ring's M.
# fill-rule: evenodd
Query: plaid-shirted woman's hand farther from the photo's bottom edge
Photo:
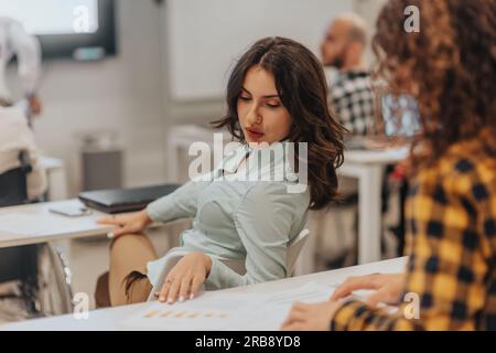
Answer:
M363 277L349 277L343 285L337 287L331 300L339 300L349 296L355 290L375 289L374 295L366 298L367 306L375 308L378 302L388 304L401 300L405 290L405 274L382 275L375 274Z

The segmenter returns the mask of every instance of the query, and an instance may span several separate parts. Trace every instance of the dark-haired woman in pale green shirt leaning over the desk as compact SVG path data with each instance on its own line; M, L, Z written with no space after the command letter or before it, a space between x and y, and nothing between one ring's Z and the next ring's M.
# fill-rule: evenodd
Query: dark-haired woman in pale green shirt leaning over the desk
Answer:
M323 68L308 49L282 38L255 43L230 75L227 115L214 122L241 145L208 178L187 182L142 212L101 220L119 228L97 303L144 301L177 252L186 255L166 274L157 293L161 301L194 298L203 285L220 289L288 276L288 244L305 226L308 210L323 208L336 196L344 129L326 97ZM278 143L284 152L265 159ZM306 149L299 146L291 160L288 143L306 143ZM289 192L303 182L299 175L306 175L308 185ZM180 247L157 259L142 231L153 221L181 217L194 217L192 228L181 234ZM234 263L242 263L245 272Z

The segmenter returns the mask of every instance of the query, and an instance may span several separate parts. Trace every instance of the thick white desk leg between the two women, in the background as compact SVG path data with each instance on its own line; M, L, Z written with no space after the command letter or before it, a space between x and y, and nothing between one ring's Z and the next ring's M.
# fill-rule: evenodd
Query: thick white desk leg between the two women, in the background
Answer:
M367 164L358 182L358 264L380 260L382 167Z

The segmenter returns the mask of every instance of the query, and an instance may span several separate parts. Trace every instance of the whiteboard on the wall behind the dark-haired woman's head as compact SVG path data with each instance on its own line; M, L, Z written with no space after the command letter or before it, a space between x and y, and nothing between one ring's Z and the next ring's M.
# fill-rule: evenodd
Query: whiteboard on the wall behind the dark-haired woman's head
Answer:
M331 20L353 0L169 0L165 77L174 100L219 98L237 58L265 36L293 39L320 57Z

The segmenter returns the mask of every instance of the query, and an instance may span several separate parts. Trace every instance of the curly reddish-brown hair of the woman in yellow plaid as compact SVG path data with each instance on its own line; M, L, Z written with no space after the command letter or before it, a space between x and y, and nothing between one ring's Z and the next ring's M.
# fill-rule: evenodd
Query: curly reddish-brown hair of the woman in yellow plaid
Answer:
M408 6L420 10L420 32L405 30ZM390 0L382 8L373 40L375 74L419 104L412 172L481 133L484 150L496 157L495 23L494 0Z

